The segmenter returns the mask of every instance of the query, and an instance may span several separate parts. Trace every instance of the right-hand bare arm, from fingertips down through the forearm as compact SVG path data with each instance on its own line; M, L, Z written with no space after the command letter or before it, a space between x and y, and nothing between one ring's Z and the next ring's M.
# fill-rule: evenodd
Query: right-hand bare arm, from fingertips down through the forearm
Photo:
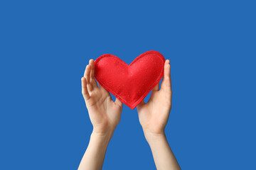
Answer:
M161 89L159 90L159 84L155 86L151 91L149 101L147 103L142 101L137 106L139 123L142 125L158 170L181 169L164 133L171 111L170 69L170 61L166 60Z

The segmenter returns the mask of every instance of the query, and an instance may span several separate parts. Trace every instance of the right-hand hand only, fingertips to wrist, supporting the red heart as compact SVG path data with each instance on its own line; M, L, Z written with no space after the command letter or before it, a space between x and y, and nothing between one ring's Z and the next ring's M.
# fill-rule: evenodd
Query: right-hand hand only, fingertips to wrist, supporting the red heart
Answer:
M146 138L149 135L164 135L164 128L171 111L170 67L170 61L166 60L161 89L159 90L159 84L157 84L151 91L149 101L147 103L142 101L137 106L139 122Z

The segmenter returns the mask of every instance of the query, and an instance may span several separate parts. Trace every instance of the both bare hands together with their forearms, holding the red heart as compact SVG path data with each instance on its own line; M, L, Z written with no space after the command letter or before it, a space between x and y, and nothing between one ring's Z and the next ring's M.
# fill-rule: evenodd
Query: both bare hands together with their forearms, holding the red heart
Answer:
M114 129L117 127L122 113L122 102L112 98L102 86L95 81L95 61L90 60L82 77L82 96L93 126L89 145L80 162L78 170L102 169L102 165ZM148 103L142 101L137 106L139 123L149 143L156 168L181 169L166 140L164 128L171 111L171 76L170 61L164 64L164 79L154 87Z

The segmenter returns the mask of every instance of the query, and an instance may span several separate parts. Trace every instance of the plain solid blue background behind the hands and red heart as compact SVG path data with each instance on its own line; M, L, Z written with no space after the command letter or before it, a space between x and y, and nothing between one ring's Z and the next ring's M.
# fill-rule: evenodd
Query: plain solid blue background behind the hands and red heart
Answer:
M181 168L256 169L255 16L253 1L1 1L0 169L77 169L86 64L148 50L171 60L166 136ZM124 106L103 169L156 169L136 109Z

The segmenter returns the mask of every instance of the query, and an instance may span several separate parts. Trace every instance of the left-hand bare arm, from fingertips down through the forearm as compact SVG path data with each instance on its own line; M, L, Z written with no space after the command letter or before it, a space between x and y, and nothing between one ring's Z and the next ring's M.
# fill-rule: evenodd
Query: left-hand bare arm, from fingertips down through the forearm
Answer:
M110 93L97 86L94 77L95 61L90 60L82 77L82 96L93 126L89 145L78 170L102 169L107 145L117 127L122 113L122 102L112 101Z

